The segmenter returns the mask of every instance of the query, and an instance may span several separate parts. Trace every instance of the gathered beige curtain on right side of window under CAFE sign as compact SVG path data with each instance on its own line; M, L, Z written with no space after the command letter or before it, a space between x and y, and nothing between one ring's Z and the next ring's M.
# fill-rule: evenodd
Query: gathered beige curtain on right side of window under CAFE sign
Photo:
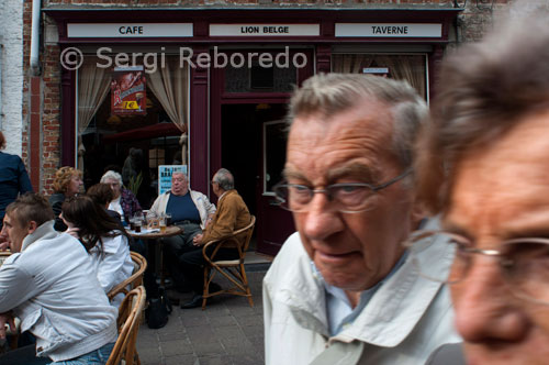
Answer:
M187 165L187 100L189 65L180 65L178 57L168 57L165 67L148 75L148 87L154 92L171 121L181 131L182 164Z

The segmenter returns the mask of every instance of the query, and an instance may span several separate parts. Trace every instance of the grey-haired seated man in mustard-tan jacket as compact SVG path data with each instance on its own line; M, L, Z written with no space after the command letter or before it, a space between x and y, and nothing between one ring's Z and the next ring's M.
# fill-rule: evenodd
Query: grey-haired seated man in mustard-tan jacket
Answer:
M198 234L194 240L194 248L187 251L179 256L180 269L189 278L192 290L195 292L191 301L181 305L181 308L195 308L202 305L202 291L204 287L204 275L202 265L202 245L213 241L229 236L234 231L249 224L251 217L248 207L235 190L233 174L226 168L221 168L212 179L213 192L217 196L217 211L213 215L203 234ZM238 240L238 237L236 237ZM214 247L211 247L213 251ZM215 257L217 259L238 258L236 248L220 248Z

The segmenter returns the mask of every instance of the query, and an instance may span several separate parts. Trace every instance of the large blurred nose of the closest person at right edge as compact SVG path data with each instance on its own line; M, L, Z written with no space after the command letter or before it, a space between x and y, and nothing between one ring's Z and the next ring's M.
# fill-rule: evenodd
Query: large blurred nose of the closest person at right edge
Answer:
M450 287L456 328L470 343L523 341L529 319L504 283L493 257L473 258L468 276Z

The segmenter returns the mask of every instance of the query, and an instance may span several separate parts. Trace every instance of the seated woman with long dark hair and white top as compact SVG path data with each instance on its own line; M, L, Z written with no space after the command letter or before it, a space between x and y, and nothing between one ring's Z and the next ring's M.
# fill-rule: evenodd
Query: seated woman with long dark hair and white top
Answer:
M94 262L98 280L105 292L127 279L134 265L130 256L128 235L115 218L88 196L78 196L63 203L63 220L67 233L76 236ZM124 295L114 297L119 307Z

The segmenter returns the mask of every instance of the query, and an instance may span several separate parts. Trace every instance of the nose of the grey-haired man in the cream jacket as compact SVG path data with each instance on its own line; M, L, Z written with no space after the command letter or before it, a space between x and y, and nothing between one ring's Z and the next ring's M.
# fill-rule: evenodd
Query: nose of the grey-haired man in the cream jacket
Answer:
M306 207L303 220L303 232L311 240L324 240L344 229L341 213L334 209L325 193L315 193Z

